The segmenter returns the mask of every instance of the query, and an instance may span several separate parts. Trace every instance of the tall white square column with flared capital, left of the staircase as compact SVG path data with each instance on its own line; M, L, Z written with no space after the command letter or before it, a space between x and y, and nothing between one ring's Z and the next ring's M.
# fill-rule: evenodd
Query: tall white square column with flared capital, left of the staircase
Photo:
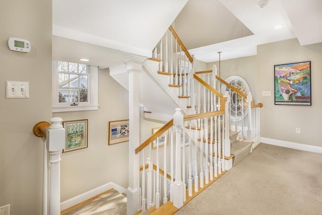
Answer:
M129 186L127 188L127 214L135 213L139 200L139 155L135 148L140 143L140 73L146 58L129 56L123 58L129 74Z

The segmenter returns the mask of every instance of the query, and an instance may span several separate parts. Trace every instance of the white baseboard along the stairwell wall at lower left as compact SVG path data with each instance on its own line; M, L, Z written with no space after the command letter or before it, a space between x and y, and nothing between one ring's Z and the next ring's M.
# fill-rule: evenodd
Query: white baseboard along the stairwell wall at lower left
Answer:
M107 184L104 184L102 186L99 186L97 188L94 188L92 190L89 190L85 193L79 194L75 197L72 197L70 199L67 199L63 202L60 202L60 211L67 209L71 206L74 206L75 204L81 203L89 198L92 198L100 193L103 193L109 189L114 188L115 190L119 191L120 193L126 193L127 190L124 187L121 187L113 182L109 182Z

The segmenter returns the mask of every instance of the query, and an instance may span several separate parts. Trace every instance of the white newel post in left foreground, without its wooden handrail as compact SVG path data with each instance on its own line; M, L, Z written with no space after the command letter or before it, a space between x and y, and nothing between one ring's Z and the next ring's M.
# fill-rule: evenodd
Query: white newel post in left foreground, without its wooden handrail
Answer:
M51 125L46 131L46 144L49 153L49 215L60 214L60 154L65 146L65 129L62 118L54 117L49 120Z

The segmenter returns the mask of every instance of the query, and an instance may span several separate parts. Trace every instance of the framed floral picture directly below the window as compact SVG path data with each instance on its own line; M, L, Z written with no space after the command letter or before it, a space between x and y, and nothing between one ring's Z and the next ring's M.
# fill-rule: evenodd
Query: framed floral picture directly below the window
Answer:
M62 122L65 128L65 148L63 153L88 148L88 119Z

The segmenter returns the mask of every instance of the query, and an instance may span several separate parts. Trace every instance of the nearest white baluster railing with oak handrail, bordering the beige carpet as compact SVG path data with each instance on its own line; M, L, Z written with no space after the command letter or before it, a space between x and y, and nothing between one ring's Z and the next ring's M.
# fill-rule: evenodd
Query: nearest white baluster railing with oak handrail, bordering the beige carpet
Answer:
M229 164L232 161L225 159L230 156L230 141L226 141L225 135L229 131L224 127L228 125L224 111L229 100L225 102L219 92L199 77L194 78L195 89L203 95L198 101L203 108L186 116L177 108L173 120L135 150L142 161L138 203L142 212L154 205L158 208L168 199L177 208L182 207L186 201L186 188L188 196L192 196L199 187L209 184L232 166ZM212 102L216 100L220 104L217 107Z

